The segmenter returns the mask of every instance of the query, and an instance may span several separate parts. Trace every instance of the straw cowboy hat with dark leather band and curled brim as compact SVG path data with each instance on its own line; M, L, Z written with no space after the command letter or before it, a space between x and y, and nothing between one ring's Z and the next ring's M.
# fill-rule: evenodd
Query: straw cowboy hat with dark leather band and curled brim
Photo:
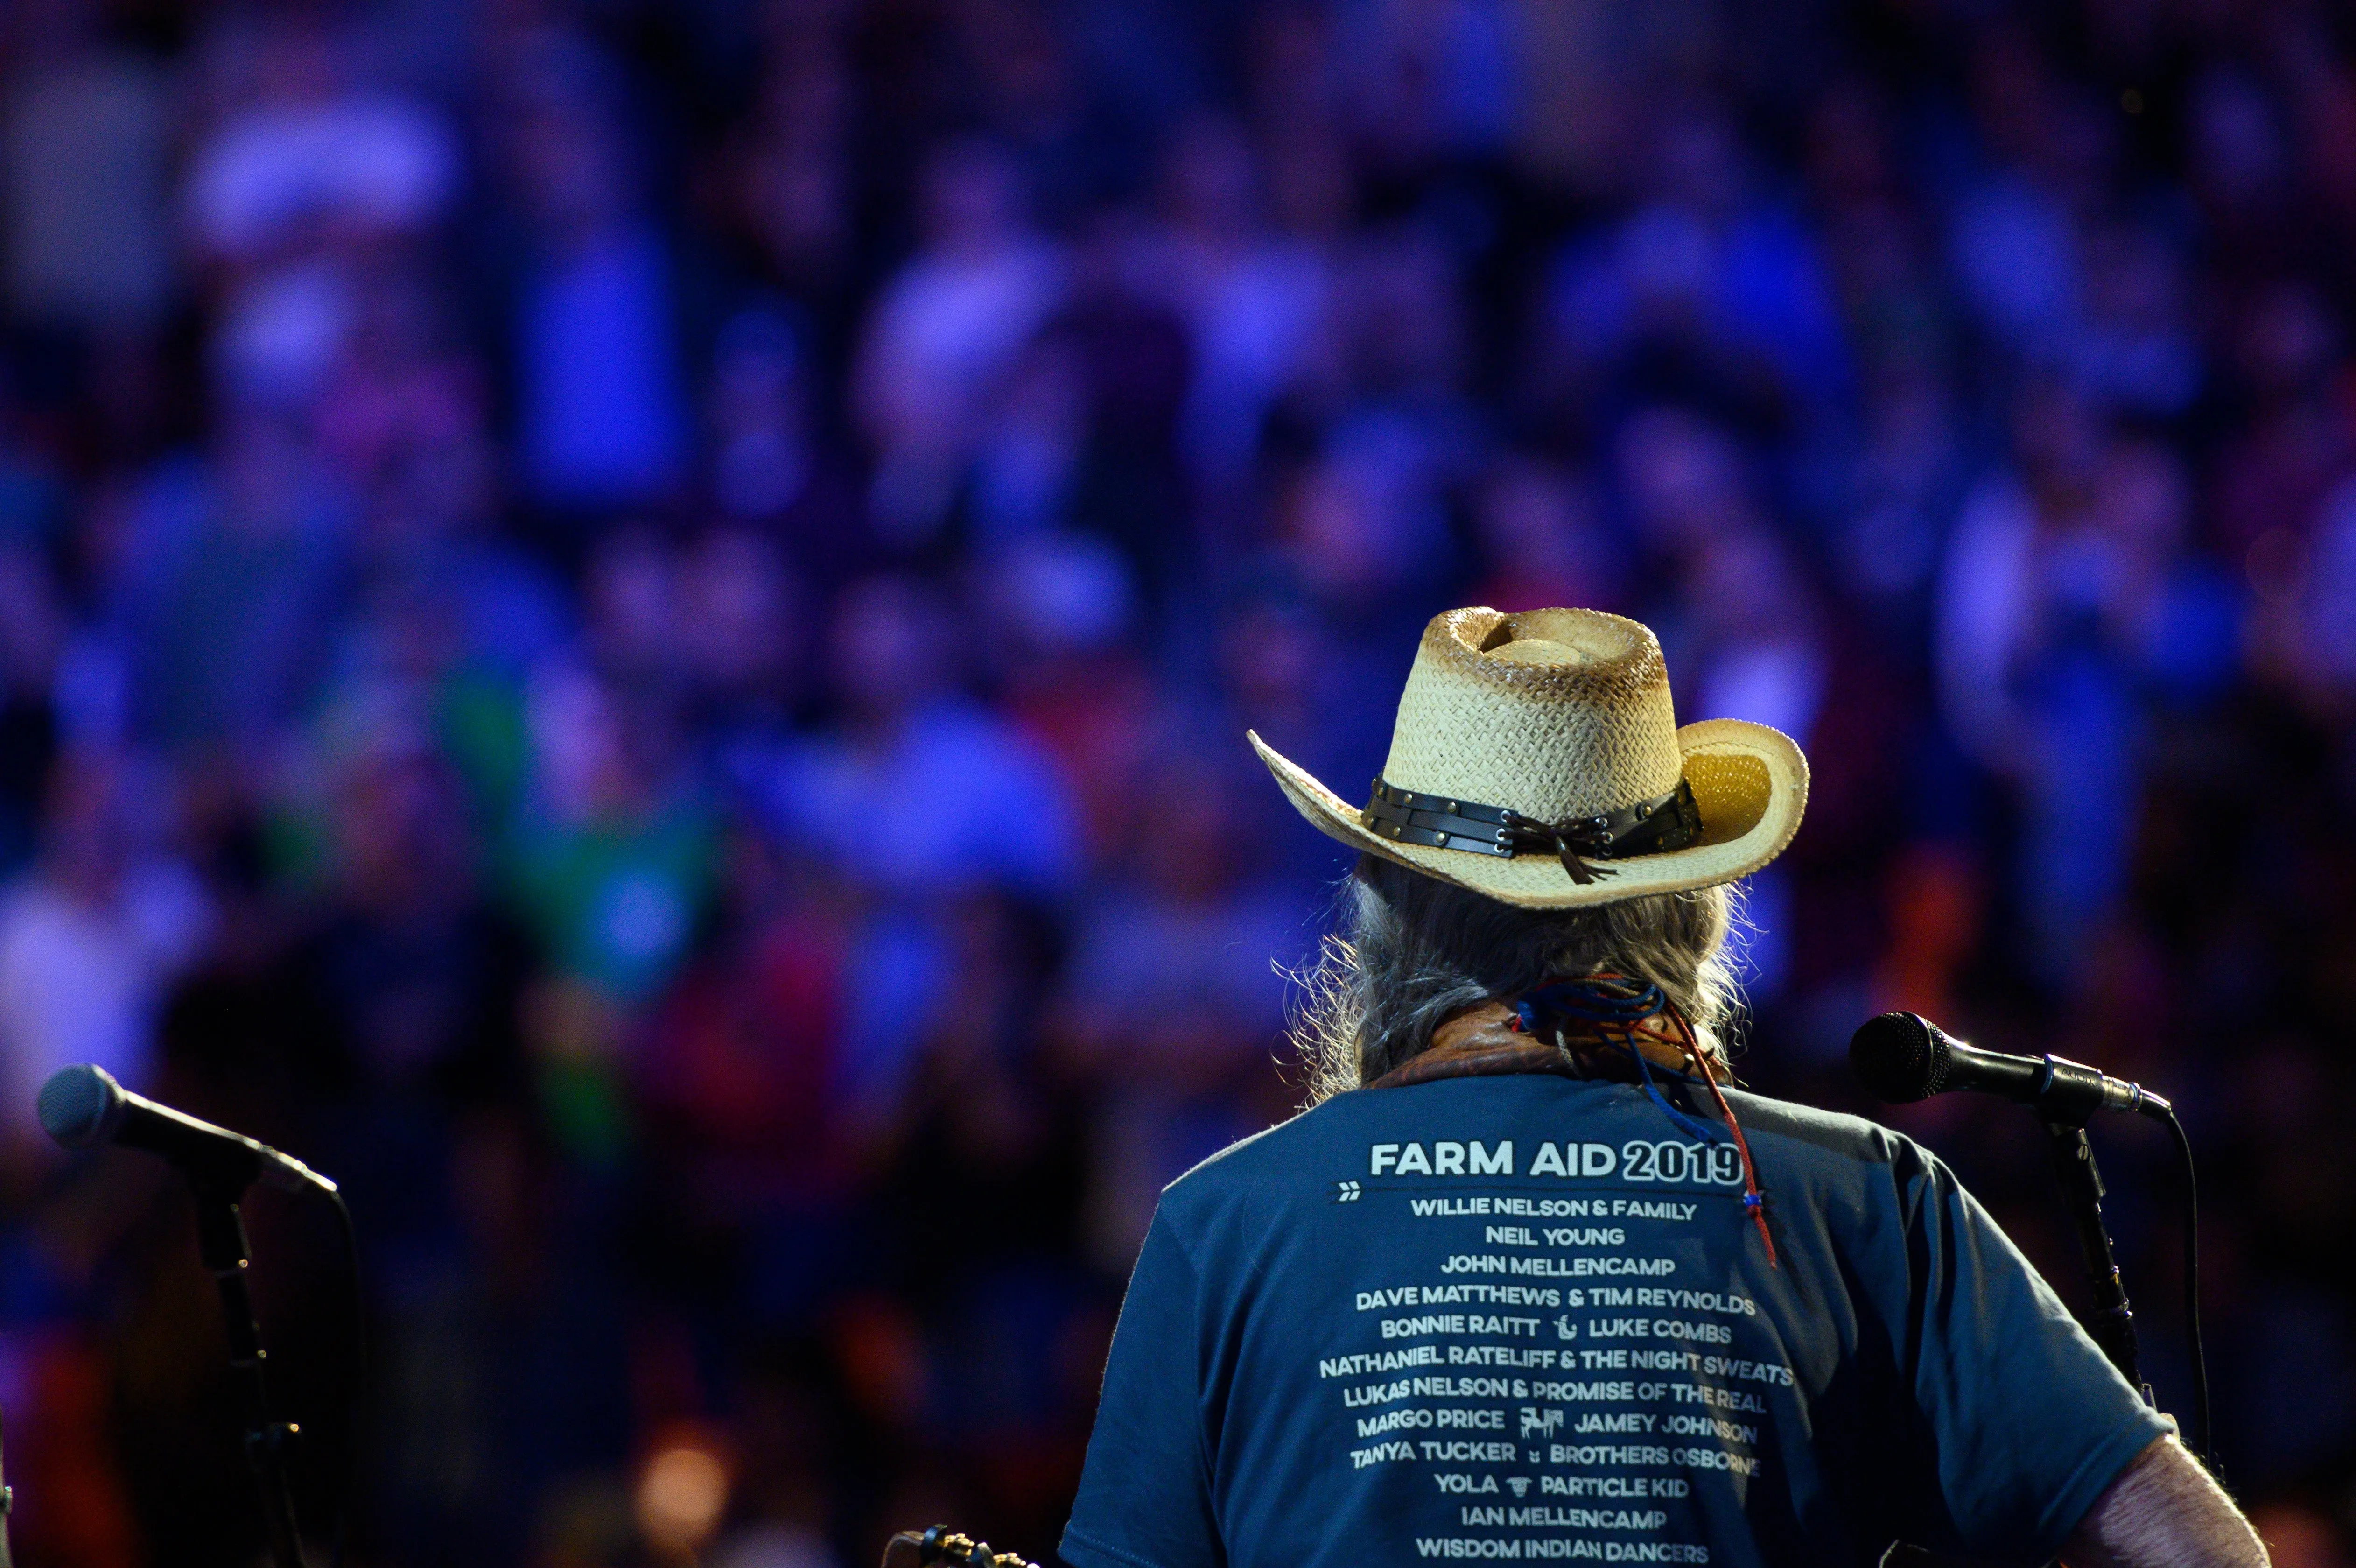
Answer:
M1432 618L1364 809L1258 736L1251 750L1319 832L1536 910L1732 882L1807 806L1791 736L1677 729L1659 639L1602 611Z

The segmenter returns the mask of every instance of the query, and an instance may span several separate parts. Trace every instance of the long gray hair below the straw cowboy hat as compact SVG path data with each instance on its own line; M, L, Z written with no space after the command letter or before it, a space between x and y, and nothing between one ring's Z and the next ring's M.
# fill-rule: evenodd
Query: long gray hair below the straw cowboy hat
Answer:
M1310 1103L1430 1049L1432 1030L1468 1007L1597 969L1659 986L1722 1066L1736 1004L1725 955L1734 920L1727 887L1524 910L1359 856L1343 891L1345 929L1296 976L1303 997L1291 1037Z

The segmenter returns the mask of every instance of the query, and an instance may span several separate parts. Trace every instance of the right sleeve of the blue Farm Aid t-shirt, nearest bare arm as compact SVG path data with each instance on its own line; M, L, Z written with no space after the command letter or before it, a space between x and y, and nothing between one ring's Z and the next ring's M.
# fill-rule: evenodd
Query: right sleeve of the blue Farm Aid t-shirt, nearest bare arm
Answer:
M1946 1511L1930 1523L1972 1556L2047 1561L2175 1424L1939 1160L1920 1155L1911 1174L1901 1165L1899 1200L1911 1207L1913 1398Z

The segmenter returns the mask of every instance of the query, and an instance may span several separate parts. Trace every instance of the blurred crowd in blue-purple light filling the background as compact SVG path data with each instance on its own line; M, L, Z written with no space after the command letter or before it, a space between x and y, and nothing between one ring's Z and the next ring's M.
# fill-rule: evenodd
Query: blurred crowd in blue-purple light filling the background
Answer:
M1046 1556L1428 615L1814 788L1743 1078L2177 1096L2226 1481L2356 1509L2356 31L2083 0L0 7L0 1415L42 1568ZM2064 1294L2026 1113L1878 1111ZM2182 1186L2102 1127L2189 1412ZM2076 1299L2076 1297L2073 1297ZM353 1353L365 1318L370 1353ZM356 1415L353 1415L356 1412Z

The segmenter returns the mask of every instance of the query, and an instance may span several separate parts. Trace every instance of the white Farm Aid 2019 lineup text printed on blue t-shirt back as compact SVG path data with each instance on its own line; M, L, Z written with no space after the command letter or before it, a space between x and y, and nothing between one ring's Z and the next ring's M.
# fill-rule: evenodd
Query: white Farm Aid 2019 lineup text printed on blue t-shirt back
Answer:
M1352 1469L1402 1467L1447 1502L1416 1554L1708 1563L1699 1488L1739 1509L1793 1386L1746 1353L1774 1342L1746 1332L1758 1304L1692 1278L1703 1205L1741 1203L1734 1148L1374 1144L1362 1170L1338 1200L1395 1207L1432 1245L1338 1304L1350 1349L1317 1377Z

